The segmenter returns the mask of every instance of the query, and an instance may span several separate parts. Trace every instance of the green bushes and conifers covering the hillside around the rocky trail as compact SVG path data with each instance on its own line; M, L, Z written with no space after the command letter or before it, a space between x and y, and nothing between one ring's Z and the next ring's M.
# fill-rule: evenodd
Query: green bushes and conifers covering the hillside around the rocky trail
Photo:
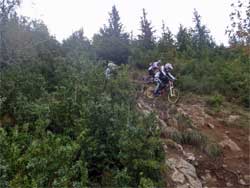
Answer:
M0 5L0 187L163 187L160 130L136 109L128 77L156 59L174 64L182 91L249 107L246 43L217 46L197 11L194 28L180 26L174 38L163 24L156 40L146 10L134 38L114 6L93 40L80 29L60 43L42 21L17 15L19 0ZM107 80L110 61L120 68ZM207 143L197 131L172 136Z

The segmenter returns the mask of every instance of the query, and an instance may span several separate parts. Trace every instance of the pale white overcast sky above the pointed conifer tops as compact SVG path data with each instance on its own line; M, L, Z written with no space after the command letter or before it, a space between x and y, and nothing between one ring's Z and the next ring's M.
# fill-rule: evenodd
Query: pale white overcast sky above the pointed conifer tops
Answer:
M92 38L116 6L125 31L139 33L142 8L160 35L162 21L176 34L179 25L193 27L193 11L201 15L202 23L211 31L217 44L227 44L225 29L230 24L231 0L23 0L19 12L42 19L59 41L83 27L85 36Z

